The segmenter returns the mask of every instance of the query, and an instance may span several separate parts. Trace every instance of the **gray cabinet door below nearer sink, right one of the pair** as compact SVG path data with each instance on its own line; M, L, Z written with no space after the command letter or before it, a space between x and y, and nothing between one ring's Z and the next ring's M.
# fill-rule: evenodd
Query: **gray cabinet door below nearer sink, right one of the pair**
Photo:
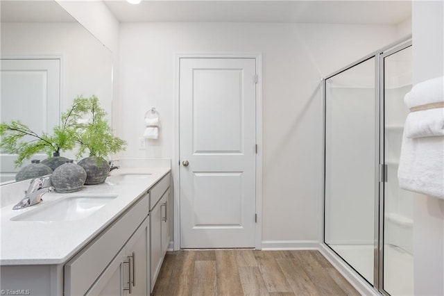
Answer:
M125 295L148 295L148 217L142 222L137 231L126 243L128 261L128 277L124 277L124 286L131 286L131 293L125 290ZM126 279L126 280L125 280Z

